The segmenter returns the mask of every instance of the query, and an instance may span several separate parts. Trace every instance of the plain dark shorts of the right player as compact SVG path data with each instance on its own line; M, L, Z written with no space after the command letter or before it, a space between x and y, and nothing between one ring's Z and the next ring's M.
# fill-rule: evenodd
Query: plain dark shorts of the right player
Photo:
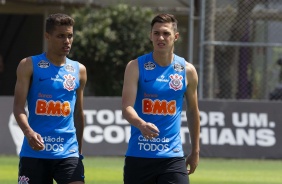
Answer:
M124 184L189 184L183 157L125 157Z

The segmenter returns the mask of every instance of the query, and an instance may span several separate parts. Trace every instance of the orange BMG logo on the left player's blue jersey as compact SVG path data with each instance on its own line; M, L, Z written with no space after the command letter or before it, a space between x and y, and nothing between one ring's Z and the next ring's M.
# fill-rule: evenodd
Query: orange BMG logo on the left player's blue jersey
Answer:
M70 102L64 101L46 101L38 99L36 101L35 114L47 116L64 116L67 117L71 113Z

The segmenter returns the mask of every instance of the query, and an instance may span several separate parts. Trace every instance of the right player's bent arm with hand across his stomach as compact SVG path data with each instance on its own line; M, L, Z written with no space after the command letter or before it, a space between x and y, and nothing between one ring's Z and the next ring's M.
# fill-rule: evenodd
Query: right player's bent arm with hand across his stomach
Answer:
M139 128L142 135L148 139L157 137L159 129L152 123L145 122L134 110L139 79L138 61L130 61L125 69L122 90L122 113L124 118L133 126Z

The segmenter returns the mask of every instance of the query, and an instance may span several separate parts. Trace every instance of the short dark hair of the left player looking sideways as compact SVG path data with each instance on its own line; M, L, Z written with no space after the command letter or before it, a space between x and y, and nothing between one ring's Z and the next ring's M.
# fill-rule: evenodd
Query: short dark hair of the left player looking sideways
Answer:
M51 14L46 19L46 28L47 33L52 33L55 30L56 26L73 26L74 19L70 16L63 13Z

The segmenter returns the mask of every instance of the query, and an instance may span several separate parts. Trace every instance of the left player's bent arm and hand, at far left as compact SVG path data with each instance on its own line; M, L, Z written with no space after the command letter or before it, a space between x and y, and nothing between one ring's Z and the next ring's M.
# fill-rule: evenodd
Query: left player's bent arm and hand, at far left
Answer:
M31 58L29 57L21 60L17 68L13 112L19 127L28 140L29 145L34 150L42 150L44 149L43 139L29 126L25 111L26 97L30 86L32 72L33 68Z

